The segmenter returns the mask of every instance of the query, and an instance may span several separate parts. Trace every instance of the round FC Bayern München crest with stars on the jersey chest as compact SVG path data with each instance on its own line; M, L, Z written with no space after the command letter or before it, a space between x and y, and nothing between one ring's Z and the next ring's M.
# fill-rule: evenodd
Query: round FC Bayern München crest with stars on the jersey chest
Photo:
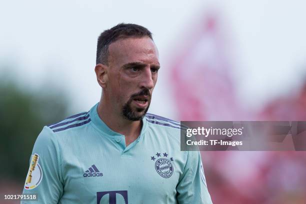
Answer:
M163 156L161 156L161 154L163 154ZM164 177L164 178L168 178L172 175L173 173L173 164L171 161L173 161L173 158L170 157L169 159L168 154L166 152L164 153L156 153L155 154L157 158L155 158L155 156L151 156L151 160L155 161L155 169L157 171L157 173ZM158 158L161 157L161 158Z

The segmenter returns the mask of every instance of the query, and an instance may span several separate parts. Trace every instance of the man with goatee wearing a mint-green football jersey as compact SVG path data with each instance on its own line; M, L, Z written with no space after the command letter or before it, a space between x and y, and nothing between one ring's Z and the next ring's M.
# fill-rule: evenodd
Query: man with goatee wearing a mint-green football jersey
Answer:
M39 203L211 203L199 152L180 151L180 124L146 113L158 69L146 28L102 32L100 101L42 129L23 193Z

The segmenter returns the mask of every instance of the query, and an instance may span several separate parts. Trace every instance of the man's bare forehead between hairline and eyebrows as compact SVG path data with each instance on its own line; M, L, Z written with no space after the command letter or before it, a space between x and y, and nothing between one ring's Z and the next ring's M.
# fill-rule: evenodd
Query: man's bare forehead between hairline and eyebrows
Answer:
M108 47L108 62L123 65L129 62L158 62L158 51L155 43L149 37L129 37L119 39Z

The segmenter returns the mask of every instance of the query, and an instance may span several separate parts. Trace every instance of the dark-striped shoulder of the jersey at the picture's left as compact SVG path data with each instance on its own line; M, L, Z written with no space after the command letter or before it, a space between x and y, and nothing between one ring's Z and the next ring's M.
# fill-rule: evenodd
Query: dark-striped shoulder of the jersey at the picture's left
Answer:
M87 111L71 115L58 122L48 124L45 127L49 128L52 132L61 132L67 129L71 130L75 127L84 126L90 121L89 111Z

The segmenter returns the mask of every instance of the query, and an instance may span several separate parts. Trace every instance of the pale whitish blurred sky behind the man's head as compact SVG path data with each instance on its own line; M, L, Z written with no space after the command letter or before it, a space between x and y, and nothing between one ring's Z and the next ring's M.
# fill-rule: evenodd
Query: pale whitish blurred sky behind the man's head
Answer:
M241 100L254 106L296 89L306 68L303 0L1 1L0 64L12 64L13 79L25 88L56 84L84 111L101 92L94 74L97 36L119 22L141 24L153 33L161 62L149 111L175 119L170 57L186 28L210 10L226 27Z

